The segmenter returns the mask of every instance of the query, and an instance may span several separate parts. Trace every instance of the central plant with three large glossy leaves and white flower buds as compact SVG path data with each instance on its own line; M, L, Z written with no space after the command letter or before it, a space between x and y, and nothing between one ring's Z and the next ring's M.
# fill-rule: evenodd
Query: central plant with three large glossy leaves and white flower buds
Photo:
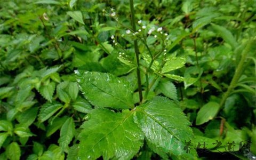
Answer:
M140 26L137 31L133 1L130 1L130 9L132 29L126 30L126 34L131 35L127 38L133 39L135 55L129 54L129 48L122 47L123 53L119 53L119 58L121 62L131 67L135 66L130 68L128 73L133 74L133 70L136 69L135 79L138 79L138 86L132 86L125 77L116 77L109 73L75 71L82 93L95 107L81 126L82 131L78 136L77 146L78 158L96 159L102 156L104 159L131 159L143 144L164 158L167 158L168 154L181 159L196 157L195 152L185 154L184 150L180 149L180 154L173 154L172 148L166 150L163 140L173 139L182 147L183 141L193 139L193 132L188 127L189 122L177 103L164 97L156 96L153 99L147 97L153 92L162 75L182 67L185 60L166 54L167 34L163 33L162 27L146 30L146 26L142 26L143 22L139 21L142 27ZM110 16L118 20L116 12L112 11ZM149 34L148 37L146 33ZM150 44L148 41L153 37L151 36L153 33L155 38L159 37L159 41L154 39L155 42ZM117 46L118 38L111 36L111 39ZM157 42L159 45L156 45ZM144 47L139 49L138 44ZM142 60L139 58L139 50ZM125 56L127 54L128 56ZM134 57L135 60L130 57ZM178 65L179 62L181 64ZM145 74L145 82L142 84L141 69ZM133 92L137 87L139 104L134 105L136 102L133 100ZM172 89L171 92L174 93L170 97L174 98L177 96L175 87ZM144 93L143 97L142 93Z

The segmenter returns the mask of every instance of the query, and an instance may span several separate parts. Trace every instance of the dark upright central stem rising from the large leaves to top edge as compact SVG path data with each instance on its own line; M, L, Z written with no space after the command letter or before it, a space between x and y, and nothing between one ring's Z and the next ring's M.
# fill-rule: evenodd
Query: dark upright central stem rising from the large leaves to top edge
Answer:
M131 10L132 29L133 31L136 31L133 0L130 0L130 10ZM136 39L134 40L134 51L135 51L135 56L137 61L138 90L139 90L139 97L140 97L140 103L141 103L143 98L142 98L142 87L141 87L141 77L140 77L139 47Z

